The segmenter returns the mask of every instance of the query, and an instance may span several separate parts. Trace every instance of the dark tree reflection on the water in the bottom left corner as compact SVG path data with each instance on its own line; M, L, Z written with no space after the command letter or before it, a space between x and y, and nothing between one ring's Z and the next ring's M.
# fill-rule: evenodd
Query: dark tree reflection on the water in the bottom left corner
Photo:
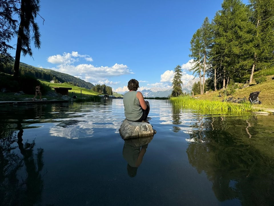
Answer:
M14 152L16 132L0 139L0 201L3 205L35 205L41 198L43 181L43 149L38 148L36 161L33 155L35 142L23 144L23 129L18 124L17 144L23 159ZM26 178L18 177L18 171L25 165Z

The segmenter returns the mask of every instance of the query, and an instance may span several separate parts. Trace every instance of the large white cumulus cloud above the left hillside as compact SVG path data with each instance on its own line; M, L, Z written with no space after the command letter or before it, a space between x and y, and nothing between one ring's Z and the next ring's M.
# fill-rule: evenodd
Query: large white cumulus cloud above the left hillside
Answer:
M88 55L81 55L77 51L72 51L70 53L63 53L63 55L57 54L50 56L48 62L52 64L57 64L56 68L51 68L58 72L70 74L72 76L78 77L92 84L98 82L108 82L105 84L117 84L117 82L109 82L108 78L112 76L121 76L125 74L134 74L128 69L126 65L114 64L113 66L94 66L92 64L78 64L74 65L75 62L81 60L93 61L93 59Z

